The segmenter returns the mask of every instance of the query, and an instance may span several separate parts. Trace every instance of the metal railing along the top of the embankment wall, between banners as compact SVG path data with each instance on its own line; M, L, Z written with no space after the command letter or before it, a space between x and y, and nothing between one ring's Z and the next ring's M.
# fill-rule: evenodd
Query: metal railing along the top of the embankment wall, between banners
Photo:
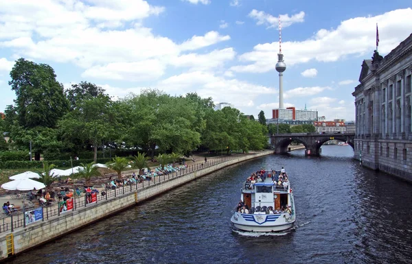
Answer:
M91 206L93 204L98 204L101 201L114 200L119 196L133 193L139 189L148 188L154 184L160 184L161 182L166 182L168 180L173 180L174 178L184 176L186 174L192 173L194 171L201 171L207 167L218 165L220 163L225 163L229 160L238 158L238 156L221 156L218 158L211 158L207 162L196 163L192 165L187 165L185 169L179 169L171 171L170 173L163 173L163 175L153 176L150 180L143 180L142 182L136 182L135 184L124 185L123 187L117 187L116 189L104 189L105 195L102 195L102 191L98 194L97 202L88 204L86 195L80 197L73 196L73 211L78 210L79 208ZM190 162L190 160L189 160ZM41 221L48 220L52 217L60 217L60 215L65 215L65 213L60 212L60 208L56 206L42 206L43 207L43 219ZM14 229L26 227L27 223L25 222L24 217L24 208L23 213L11 213L7 217L0 219L0 232L14 232Z

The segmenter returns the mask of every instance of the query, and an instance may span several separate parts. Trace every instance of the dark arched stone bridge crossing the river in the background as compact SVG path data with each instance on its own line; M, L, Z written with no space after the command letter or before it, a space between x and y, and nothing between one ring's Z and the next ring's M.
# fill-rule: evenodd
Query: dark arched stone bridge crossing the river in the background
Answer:
M273 134L271 136L271 145L275 149L275 153L286 153L288 152L288 145L292 141L297 141L304 144L306 147L305 154L307 156L319 156L321 154L321 145L326 141L336 140L347 143L352 148L354 148L354 133L291 133L291 134Z

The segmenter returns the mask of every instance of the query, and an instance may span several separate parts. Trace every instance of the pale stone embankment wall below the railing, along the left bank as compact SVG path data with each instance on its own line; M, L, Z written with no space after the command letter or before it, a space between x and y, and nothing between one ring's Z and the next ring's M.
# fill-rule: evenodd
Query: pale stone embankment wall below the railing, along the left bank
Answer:
M148 200L157 195L161 195L168 190L180 187L181 185L205 176L211 172L218 171L224 167L241 163L245 160L259 158L273 154L273 151L258 152L257 154L249 154L239 156L232 160L227 160L223 163L218 163L205 169L200 169L192 173L187 173L183 176L178 176L170 180L159 182L154 185L139 189L135 192L119 195L113 200L102 200L98 204L88 204L84 208L76 208L76 211L65 213L58 217L49 218L47 221L40 221L25 228L16 228L14 235L14 254L19 254L30 248L34 248L42 243L56 239L62 235L66 235L73 230L82 228L91 224L93 221L98 221L124 210L130 206ZM0 260L8 257L6 246L6 235L10 233L3 232L0 234Z

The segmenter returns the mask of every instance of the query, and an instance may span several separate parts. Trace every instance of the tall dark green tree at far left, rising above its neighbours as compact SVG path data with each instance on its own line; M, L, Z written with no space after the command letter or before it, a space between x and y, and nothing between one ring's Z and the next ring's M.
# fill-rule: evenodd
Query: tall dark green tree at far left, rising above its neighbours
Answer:
M54 69L20 58L10 72L9 85L16 92L16 113L19 125L54 128L68 110L62 84L57 82Z

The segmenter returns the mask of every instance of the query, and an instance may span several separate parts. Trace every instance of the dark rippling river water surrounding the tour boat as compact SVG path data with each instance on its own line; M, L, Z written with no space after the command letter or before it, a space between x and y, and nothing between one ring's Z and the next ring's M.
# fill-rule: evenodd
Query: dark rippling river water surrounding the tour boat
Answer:
M412 184L359 166L350 146L324 145L222 169L21 254L11 263L412 263ZM285 167L295 228L233 230L242 182Z

